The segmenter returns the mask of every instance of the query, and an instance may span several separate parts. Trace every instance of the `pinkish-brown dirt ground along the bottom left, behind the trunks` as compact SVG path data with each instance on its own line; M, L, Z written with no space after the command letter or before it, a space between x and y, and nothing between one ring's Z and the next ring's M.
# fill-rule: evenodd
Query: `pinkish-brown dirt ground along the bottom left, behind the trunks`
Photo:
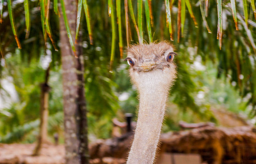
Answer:
M1 144L0 164L63 164L65 163L64 145L44 144L40 156L32 156L36 144ZM90 163L125 163L124 159L104 157L101 160L90 160Z

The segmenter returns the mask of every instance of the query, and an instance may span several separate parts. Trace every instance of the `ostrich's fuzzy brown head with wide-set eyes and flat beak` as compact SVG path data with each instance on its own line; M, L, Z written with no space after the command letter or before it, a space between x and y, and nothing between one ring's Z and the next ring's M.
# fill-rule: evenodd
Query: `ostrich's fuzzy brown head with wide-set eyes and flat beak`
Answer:
M170 86L176 77L173 62L176 53L167 42L132 46L127 50L126 61L130 65L130 76L138 88L142 85Z

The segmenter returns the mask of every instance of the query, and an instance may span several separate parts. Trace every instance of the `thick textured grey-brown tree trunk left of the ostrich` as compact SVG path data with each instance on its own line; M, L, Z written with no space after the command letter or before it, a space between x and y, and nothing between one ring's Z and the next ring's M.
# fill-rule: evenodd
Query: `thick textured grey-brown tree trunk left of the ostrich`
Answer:
M77 1L65 0L64 2L71 34L73 34L73 40L75 40ZM81 40L78 40L76 44L78 58L75 58L66 34L63 15L60 18L60 50L63 70L66 163L89 163L84 58L82 56Z

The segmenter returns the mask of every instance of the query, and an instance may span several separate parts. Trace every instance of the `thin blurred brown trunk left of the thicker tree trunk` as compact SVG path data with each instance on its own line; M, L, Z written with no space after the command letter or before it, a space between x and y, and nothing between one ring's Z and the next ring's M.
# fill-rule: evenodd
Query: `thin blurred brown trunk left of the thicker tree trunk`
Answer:
M49 101L49 90L51 87L48 85L48 79L49 79L49 72L50 72L50 65L46 70L46 76L44 83L42 83L41 86L41 96L40 96L40 132L37 140L37 145L34 150L34 155L39 155L42 144L48 143L47 139L47 124L48 124L48 101Z

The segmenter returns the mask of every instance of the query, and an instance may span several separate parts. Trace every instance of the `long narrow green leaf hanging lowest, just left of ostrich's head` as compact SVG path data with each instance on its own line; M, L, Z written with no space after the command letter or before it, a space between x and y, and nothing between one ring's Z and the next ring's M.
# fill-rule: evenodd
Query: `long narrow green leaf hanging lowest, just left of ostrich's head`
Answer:
M112 71L112 65L114 61L114 56L115 56L115 15L114 15L114 8L113 8L113 3L112 0L108 0L108 14L111 17L111 26L112 26L112 44L111 44L111 56L110 56L110 71Z

